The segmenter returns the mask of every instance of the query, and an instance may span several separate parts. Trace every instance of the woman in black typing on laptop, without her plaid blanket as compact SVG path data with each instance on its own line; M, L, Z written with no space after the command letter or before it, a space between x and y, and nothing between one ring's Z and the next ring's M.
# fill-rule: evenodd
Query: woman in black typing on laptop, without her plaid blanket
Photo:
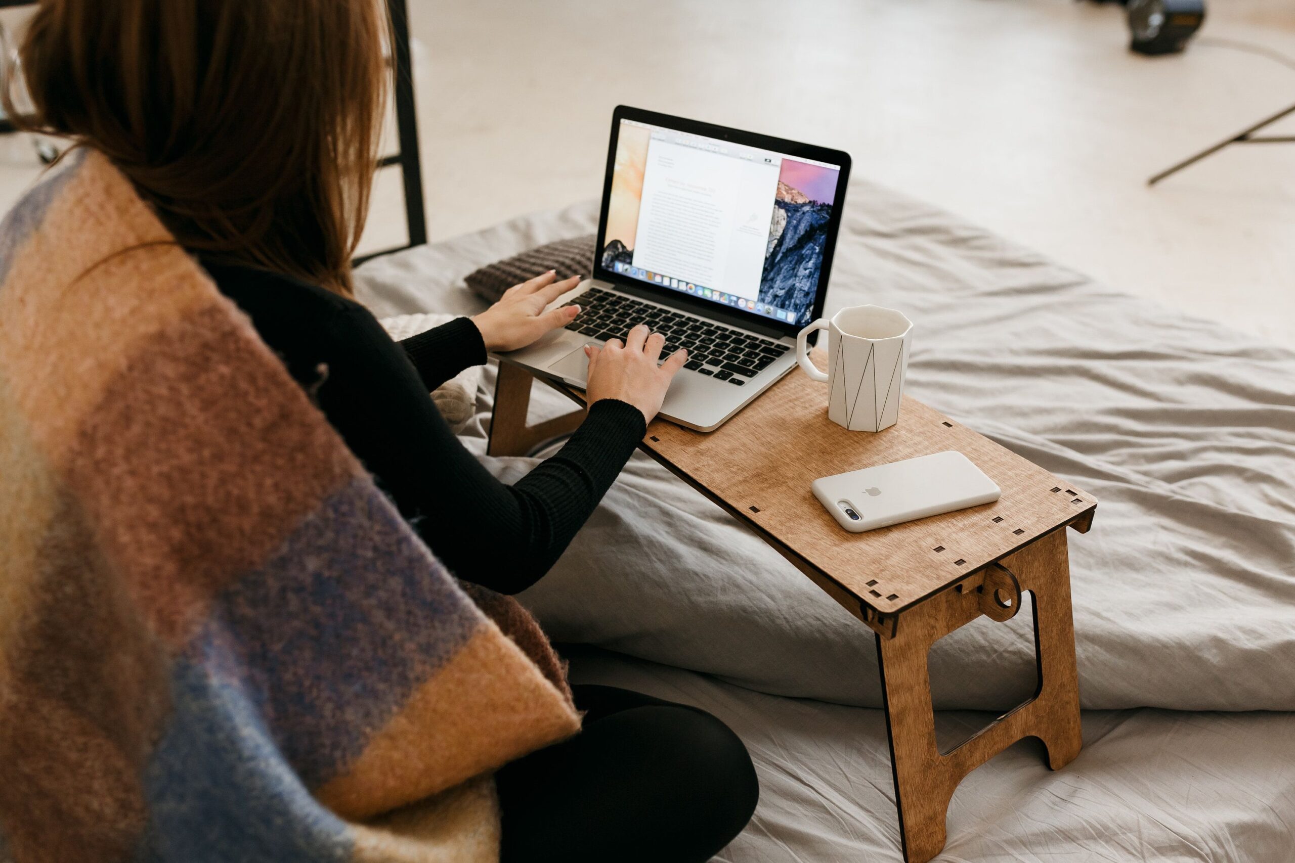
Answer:
M658 367L663 339L644 326L589 351L587 419L512 486L464 449L429 389L567 323L576 308L544 307L576 281L545 273L400 344L351 299L382 23L372 0L45 0L22 52L27 123L107 155L433 551L517 593L588 519L685 356ZM742 829L756 779L723 723L613 687L575 699L580 735L497 775L505 860L704 860Z

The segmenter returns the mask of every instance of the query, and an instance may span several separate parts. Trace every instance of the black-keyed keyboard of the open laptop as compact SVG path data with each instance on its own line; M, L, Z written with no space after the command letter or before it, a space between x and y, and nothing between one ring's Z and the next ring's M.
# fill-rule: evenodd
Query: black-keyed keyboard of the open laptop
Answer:
M580 314L566 329L591 339L624 342L632 327L646 323L654 333L666 336L662 358L685 348L685 369L738 387L787 352L787 345L780 342L597 287L591 287L566 305L576 304L580 305Z

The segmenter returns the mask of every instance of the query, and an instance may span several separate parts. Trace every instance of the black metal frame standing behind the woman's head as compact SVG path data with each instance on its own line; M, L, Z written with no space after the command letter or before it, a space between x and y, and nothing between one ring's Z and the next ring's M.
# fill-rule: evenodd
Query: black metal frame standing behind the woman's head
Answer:
M0 0L0 9L35 5L31 0ZM396 107L396 132L400 149L378 162L379 168L399 167L404 180L405 230L408 243L373 252L355 260L363 264L379 255L390 255L427 242L427 216L422 199L422 157L418 153L418 109L413 93L413 54L409 48L409 4L387 0L391 16L391 66ZM0 118L0 135L17 132L9 118Z

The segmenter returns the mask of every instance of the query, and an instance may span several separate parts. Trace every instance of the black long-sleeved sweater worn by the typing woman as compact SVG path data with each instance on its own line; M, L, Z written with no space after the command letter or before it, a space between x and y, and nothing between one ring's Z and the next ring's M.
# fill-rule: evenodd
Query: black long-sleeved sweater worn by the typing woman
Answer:
M368 309L321 287L238 267L205 267L313 393L401 515L466 581L506 594L535 584L646 431L633 405L594 402L561 452L505 485L455 437L427 395L486 362L486 345L470 320L396 344Z

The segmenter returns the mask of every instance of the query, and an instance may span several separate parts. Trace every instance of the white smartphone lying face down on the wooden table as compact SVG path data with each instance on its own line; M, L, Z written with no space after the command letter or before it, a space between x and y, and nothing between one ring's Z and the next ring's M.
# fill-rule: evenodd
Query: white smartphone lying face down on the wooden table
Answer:
M1002 494L971 459L952 449L824 476L812 488L851 533L992 503Z

